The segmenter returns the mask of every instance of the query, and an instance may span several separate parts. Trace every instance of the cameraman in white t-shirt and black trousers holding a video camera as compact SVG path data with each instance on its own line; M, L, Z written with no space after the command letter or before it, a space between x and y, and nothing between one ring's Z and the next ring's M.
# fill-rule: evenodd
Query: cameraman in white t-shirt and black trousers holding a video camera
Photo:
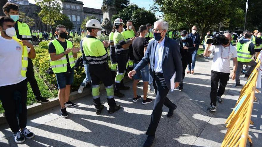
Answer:
M222 103L221 96L224 94L227 86L227 81L230 76L230 59L233 58L233 72L231 75L232 80L236 78L237 69L237 50L236 47L230 45L232 35L230 33L224 33L225 39L221 45L210 45L204 51L204 56L209 56L210 53L214 54L212 66L211 66L211 107L208 108L210 111L216 111L216 100ZM210 47L211 46L211 47ZM219 90L218 88L219 82Z

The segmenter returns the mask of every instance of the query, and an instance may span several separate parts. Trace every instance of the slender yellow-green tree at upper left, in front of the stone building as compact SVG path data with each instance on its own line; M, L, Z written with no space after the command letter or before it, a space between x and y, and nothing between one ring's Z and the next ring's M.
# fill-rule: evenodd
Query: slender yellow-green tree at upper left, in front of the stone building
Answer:
M36 5L41 7L38 16L42 18L43 23L51 26L53 29L54 23L57 20L62 20L62 8L60 7L60 0L35 0Z

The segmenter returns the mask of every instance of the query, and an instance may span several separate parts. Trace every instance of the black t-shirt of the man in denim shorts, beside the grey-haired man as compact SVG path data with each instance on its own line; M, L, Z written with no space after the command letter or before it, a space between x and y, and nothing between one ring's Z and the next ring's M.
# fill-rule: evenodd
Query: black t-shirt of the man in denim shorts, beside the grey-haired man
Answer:
M144 57L144 48L147 47L148 41L146 38L137 37L133 43L134 62L140 61Z

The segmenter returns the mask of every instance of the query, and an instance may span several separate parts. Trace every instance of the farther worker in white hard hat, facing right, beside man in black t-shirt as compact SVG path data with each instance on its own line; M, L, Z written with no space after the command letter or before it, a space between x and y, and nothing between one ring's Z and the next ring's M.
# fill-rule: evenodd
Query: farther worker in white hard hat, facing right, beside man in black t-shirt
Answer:
M115 33L113 36L113 41L116 50L116 62L117 62L117 73L115 80L115 92L114 95L117 97L124 97L124 94L120 90L127 90L129 86L124 86L123 78L126 72L126 62L129 51L129 46L132 44L132 41L135 37L130 38L129 41L126 41L121 32L124 29L125 23L122 19L117 18L114 21Z

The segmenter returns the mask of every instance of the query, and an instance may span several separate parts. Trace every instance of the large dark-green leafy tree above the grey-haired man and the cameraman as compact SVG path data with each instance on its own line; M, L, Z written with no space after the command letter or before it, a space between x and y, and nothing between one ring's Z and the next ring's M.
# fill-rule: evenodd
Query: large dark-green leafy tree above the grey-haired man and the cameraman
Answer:
M222 22L230 11L235 9L231 0L154 0L158 11L164 13L164 19L171 29L182 29L184 26L191 31L196 25L201 38L207 30Z

